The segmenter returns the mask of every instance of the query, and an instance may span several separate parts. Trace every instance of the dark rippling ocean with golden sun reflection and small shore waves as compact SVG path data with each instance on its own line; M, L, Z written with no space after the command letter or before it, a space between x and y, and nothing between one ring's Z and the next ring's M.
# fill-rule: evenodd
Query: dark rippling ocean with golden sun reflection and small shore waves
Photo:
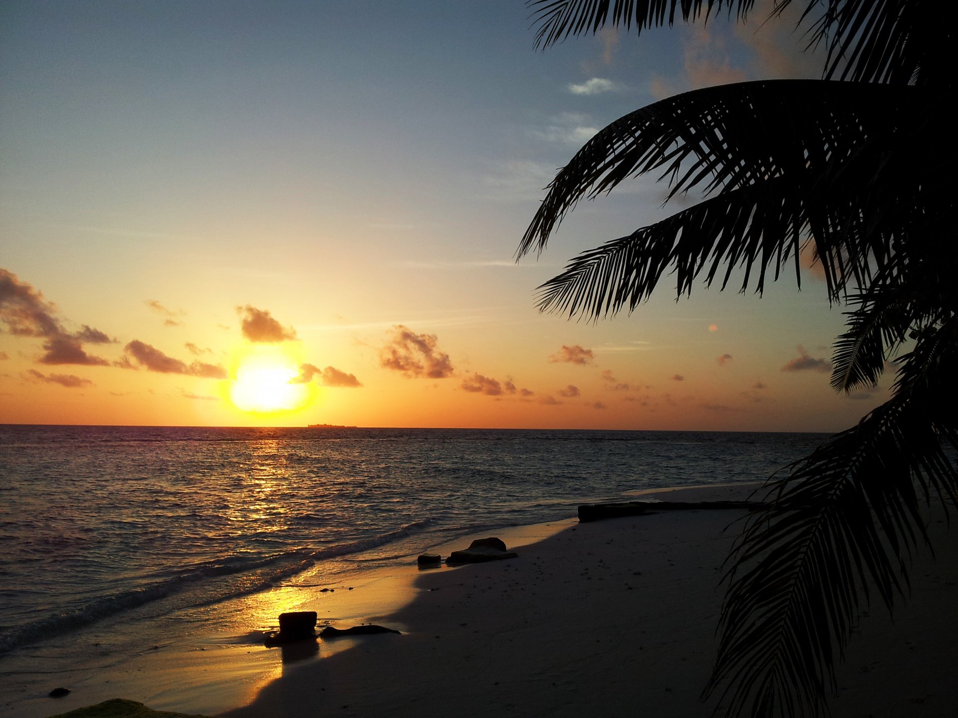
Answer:
M762 481L826 436L0 426L0 714L191 632L262 642L229 609L243 596L643 489Z

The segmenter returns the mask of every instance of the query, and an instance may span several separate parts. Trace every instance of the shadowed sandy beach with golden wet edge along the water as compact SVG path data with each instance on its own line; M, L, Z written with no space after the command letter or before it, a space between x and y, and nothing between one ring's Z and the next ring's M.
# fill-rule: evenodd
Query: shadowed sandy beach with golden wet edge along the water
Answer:
M656 495L700 501L747 493L719 486ZM499 533L516 559L428 571L401 566L354 591L285 607L317 610L320 623L374 622L401 636L265 650L258 660L268 670L208 682L189 699L191 674L216 665L197 658L177 671L180 700L166 693L162 706L145 702L185 712L205 706L202 712L229 718L709 716L716 701L703 703L699 692L715 655L720 566L736 535L725 529L742 513L670 511L507 529ZM941 518L932 524L938 559L918 556L913 597L894 623L875 605L863 617L839 667L833 715L955 714L958 552ZM225 709L231 702L248 703ZM217 703L224 709L208 710Z

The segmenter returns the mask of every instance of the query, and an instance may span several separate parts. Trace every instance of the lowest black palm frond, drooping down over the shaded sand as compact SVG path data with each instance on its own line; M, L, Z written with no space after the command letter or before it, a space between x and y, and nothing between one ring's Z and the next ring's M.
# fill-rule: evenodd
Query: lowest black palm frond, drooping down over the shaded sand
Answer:
M733 552L719 659L706 693L726 684L729 715L817 713L872 586L892 610L924 536L916 487L953 502L958 445L941 396L956 395L954 320L902 363L895 397L769 484ZM947 502L943 505L946 506ZM751 712L748 712L751 711Z

